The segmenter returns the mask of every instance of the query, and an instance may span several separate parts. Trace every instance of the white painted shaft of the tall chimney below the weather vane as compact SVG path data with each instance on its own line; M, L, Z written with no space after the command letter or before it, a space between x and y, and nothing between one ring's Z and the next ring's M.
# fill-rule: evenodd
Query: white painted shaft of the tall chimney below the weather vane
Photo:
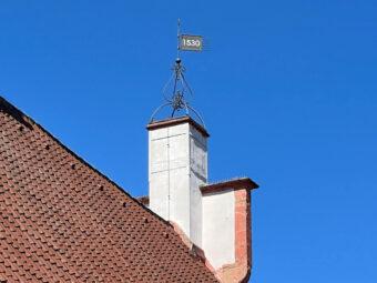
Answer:
M202 246L202 196L207 181L206 138L188 123L149 131L150 209L180 225Z

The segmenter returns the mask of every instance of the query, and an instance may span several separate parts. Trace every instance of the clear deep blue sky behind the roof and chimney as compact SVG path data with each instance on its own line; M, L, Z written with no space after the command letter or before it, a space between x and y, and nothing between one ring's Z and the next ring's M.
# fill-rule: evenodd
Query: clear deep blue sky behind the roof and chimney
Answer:
M255 283L377 282L377 2L0 3L0 92L133 195L176 19L212 181L248 175Z

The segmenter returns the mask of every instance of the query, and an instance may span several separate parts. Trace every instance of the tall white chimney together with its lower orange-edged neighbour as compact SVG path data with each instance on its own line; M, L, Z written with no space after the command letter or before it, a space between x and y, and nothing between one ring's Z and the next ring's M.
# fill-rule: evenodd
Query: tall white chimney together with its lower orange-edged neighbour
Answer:
M258 185L248 178L208 183L210 134L188 115L152 121L146 129L149 208L174 224L221 282L247 282L251 191Z

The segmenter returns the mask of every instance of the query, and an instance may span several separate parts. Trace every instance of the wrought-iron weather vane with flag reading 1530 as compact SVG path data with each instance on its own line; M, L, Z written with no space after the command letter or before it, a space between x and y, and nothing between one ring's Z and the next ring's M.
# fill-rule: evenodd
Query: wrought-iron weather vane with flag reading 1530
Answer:
M175 59L175 64L172 68L173 73L162 92L164 95L165 103L160 105L152 114L151 122L153 122L154 117L165 107L172 107L171 118L174 117L180 111L185 111L186 115L190 114L190 111L193 112L204 127L203 119L197 113L195 109L193 109L187 100L185 99L185 94L188 92L193 95L193 92L184 77L185 68L182 64L181 60L181 51L196 51L200 52L203 49L203 37L193 36L193 34L182 34L181 33L181 20L177 21L177 54Z

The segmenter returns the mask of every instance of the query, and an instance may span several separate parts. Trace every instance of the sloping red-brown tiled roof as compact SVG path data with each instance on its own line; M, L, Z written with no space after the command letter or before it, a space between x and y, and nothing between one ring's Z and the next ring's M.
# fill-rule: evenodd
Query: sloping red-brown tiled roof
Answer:
M0 98L7 281L217 282L172 225Z

